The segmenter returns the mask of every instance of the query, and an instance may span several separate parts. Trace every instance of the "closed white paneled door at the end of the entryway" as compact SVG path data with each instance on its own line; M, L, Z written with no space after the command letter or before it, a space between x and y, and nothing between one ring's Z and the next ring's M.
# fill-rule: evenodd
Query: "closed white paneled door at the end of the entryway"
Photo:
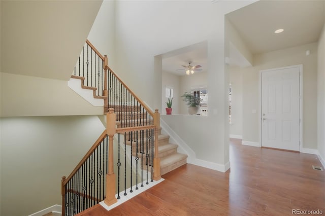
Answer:
M262 146L299 151L300 67L261 72Z

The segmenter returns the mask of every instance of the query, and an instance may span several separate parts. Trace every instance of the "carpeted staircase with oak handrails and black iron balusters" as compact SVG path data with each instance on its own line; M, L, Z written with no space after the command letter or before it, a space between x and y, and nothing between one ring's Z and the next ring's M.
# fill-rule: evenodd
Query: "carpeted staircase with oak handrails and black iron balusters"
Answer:
M107 56L89 41L71 79L81 80L82 89L104 100L107 126L72 173L62 177L62 215L75 215L103 200L110 206L126 196L126 190L132 193L138 185L159 181L161 175L186 164L187 155L177 152L169 135L161 134L158 110L153 112L129 89L109 68ZM114 149L118 151L114 153ZM141 173L139 178L136 174L135 182L133 172ZM130 181L126 183L126 179Z

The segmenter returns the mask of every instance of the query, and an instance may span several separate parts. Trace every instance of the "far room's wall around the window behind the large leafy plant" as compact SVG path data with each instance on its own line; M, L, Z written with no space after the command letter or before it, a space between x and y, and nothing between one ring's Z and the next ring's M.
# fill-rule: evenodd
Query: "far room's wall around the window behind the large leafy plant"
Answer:
M183 98L180 96L183 95L186 91L198 90L199 88L208 88L208 73L196 72L192 75L186 75L180 77L180 95L179 100L179 114L188 115L188 106L186 102L183 101ZM213 93L211 93L213 95ZM210 92L208 90L208 103L209 103Z

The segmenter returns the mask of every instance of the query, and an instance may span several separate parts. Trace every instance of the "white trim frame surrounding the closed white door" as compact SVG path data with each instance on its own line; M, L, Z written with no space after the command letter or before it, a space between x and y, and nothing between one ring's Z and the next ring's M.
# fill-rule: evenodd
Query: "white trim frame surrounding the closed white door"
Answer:
M286 67L276 67L272 69L259 70L259 83L258 83L258 130L259 130L259 143L263 147L262 143L262 73L272 70L287 69L287 68L299 68L299 151L303 150L303 65L291 65Z

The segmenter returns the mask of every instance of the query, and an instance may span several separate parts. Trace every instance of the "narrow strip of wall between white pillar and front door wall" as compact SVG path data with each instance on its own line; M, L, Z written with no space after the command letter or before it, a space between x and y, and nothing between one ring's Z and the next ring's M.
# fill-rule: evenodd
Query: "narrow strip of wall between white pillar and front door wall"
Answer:
M229 127L233 137L241 137L243 130L243 74L238 66L230 67L230 83L232 84L232 123Z

